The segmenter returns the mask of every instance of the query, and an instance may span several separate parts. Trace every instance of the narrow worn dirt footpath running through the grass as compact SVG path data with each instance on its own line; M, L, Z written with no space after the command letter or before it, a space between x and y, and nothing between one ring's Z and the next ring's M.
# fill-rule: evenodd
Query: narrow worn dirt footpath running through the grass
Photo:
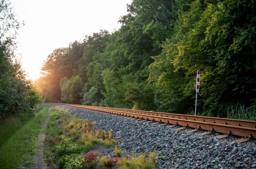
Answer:
M49 169L47 166L47 163L44 162L44 139L45 139L45 133L44 128L47 125L47 121L50 118L50 110L48 109L48 117L45 123L43 124L42 130L38 137L38 149L35 151L34 155L34 164L30 166L28 169Z

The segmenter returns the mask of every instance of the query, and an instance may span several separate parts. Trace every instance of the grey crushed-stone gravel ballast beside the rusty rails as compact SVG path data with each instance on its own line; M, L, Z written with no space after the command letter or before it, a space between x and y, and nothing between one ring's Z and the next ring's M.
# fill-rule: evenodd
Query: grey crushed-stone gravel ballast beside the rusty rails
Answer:
M95 129L113 129L114 139L125 153L157 153L159 169L256 169L256 141L239 138L213 139L212 135L187 133L169 125L136 121L123 116L56 104L79 118L95 121ZM124 145L123 145L124 143Z

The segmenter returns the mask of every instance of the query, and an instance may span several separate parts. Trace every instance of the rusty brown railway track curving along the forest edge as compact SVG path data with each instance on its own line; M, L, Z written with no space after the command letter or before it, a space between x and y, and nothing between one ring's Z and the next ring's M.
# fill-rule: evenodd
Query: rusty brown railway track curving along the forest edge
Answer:
M62 103L45 103L45 104L62 104ZM183 115L172 113L160 113L141 110L128 110L110 107L97 107L77 104L62 104L72 107L79 107L89 110L96 110L104 113L111 113L114 115L124 115L131 118L138 118L142 120L155 121L163 124L170 124L170 127L181 126L177 130L183 128L192 128L189 132L206 131L201 133L223 133L218 136L223 138L227 136L237 135L243 137L240 141L254 140L256 137L256 121L236 120L229 118L213 118L195 115Z

